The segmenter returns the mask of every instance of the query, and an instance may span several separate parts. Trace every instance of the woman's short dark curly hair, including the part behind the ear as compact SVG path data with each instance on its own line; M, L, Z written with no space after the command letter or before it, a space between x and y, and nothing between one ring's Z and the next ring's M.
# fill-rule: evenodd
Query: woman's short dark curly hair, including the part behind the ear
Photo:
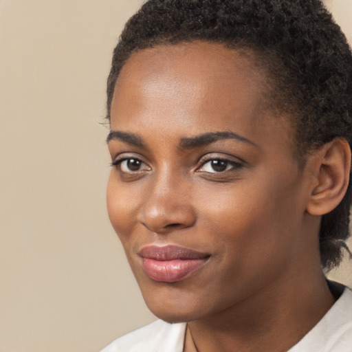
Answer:
M270 108L294 126L296 154L343 137L352 142L352 55L320 0L149 0L126 23L107 81L110 119L115 83L126 60L156 45L206 41L247 52L265 72ZM337 266L349 236L351 181L340 204L322 217L320 256ZM351 253L350 253L351 254Z

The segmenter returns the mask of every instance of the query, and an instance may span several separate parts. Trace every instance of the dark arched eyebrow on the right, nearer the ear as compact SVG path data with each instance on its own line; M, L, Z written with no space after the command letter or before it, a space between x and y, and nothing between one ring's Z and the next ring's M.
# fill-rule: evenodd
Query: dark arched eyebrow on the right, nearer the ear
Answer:
M254 142L231 131L203 133L201 135L196 135L195 137L181 137L179 146L185 149L197 148L198 146L211 144L217 142L218 140L238 140L239 142L245 142L259 148L259 146Z

